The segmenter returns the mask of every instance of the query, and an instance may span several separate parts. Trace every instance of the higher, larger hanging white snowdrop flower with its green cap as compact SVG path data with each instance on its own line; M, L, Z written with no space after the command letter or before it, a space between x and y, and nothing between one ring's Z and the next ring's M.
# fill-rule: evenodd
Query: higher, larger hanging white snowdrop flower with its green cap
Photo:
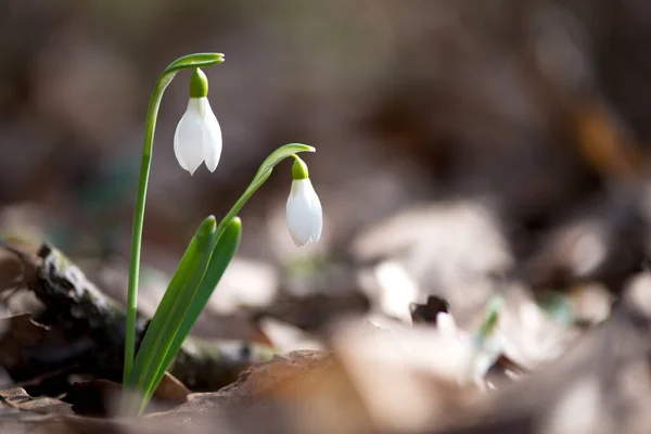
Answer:
M215 171L221 156L221 128L207 99L208 79L196 68L190 81L190 102L174 135L174 153L190 175L205 162Z

